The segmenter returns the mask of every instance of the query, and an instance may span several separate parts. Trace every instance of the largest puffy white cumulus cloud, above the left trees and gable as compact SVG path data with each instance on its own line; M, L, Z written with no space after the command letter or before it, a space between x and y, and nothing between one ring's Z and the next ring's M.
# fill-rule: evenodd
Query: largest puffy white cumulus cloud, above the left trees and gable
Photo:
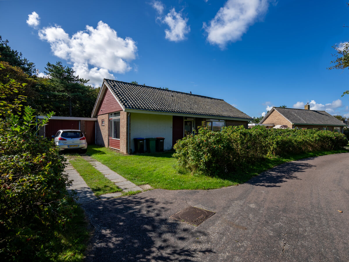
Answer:
M136 58L137 46L132 38L121 38L117 32L102 21L96 28L69 36L60 26L39 30L39 37L51 45L55 56L73 64L72 68L81 78L90 79L88 84L99 86L103 78L115 79L111 73L131 70L129 62ZM90 68L92 67L92 68Z

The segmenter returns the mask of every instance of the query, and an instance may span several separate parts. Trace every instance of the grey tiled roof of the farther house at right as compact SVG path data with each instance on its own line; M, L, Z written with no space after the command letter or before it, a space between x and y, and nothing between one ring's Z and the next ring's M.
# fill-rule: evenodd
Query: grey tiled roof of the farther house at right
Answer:
M275 107L292 124L345 125L326 111Z

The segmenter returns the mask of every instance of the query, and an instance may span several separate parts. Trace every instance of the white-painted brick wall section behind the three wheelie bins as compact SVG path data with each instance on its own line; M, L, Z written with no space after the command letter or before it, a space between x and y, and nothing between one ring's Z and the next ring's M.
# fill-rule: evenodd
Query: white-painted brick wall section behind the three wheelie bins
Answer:
M164 150L172 147L172 116L131 113L131 149L134 151L133 138L164 137ZM144 150L147 146L144 140Z

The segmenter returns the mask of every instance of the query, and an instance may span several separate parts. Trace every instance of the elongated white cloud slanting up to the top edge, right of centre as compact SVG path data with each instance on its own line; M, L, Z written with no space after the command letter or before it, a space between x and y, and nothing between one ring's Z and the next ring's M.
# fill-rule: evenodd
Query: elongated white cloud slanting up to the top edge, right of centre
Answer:
M207 41L221 49L228 42L236 42L247 32L261 15L265 14L271 0L228 0L214 19L203 28L207 32Z

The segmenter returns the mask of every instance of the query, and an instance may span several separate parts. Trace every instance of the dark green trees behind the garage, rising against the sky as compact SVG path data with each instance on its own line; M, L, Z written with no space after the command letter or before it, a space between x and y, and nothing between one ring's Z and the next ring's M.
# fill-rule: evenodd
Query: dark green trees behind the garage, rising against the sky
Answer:
M86 86L88 80L80 79L72 68L62 63L47 63L48 76L38 77L34 64L10 48L0 37L0 82L15 80L25 84L24 106L35 109L38 115L54 111L56 116L90 117L99 88ZM16 97L16 96L13 96ZM8 97L11 100L13 97Z

